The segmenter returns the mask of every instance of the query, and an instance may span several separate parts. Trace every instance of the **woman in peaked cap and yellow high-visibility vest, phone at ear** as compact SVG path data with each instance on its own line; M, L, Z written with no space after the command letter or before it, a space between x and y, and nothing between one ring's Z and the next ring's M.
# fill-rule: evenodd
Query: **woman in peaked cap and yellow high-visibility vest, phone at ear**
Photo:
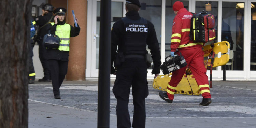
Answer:
M60 86L68 71L69 58L69 40L70 37L79 35L80 27L73 27L66 23L65 8L57 8L53 11L56 16L54 23L48 24L51 34L58 35L61 39L58 49L47 49L48 63L53 85L53 94L55 99L60 99ZM77 22L77 18L76 22ZM75 25L74 25L75 26Z

